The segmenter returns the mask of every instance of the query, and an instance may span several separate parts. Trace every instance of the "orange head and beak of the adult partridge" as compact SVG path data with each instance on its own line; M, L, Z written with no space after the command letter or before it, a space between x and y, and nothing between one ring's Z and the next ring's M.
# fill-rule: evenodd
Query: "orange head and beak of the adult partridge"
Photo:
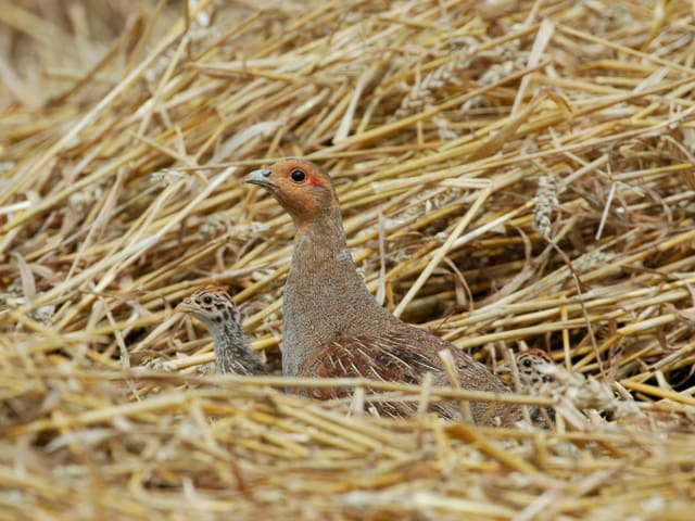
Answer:
M270 168L253 170L245 181L267 189L298 227L338 207L330 177L320 166L308 161L278 161Z

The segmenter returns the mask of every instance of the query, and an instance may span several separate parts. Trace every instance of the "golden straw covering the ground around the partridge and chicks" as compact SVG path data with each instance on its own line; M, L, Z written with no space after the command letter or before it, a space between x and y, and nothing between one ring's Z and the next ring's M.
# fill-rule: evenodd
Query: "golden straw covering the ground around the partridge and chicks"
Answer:
M679 0L0 0L0 518L692 519L694 36ZM242 178L286 156L379 302L515 393L283 392L292 226ZM173 308L211 283L274 374L201 376Z

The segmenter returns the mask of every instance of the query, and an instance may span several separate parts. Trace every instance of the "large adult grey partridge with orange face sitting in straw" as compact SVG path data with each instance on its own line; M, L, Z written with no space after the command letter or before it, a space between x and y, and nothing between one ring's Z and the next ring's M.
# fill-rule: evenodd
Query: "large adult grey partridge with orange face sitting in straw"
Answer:
M265 188L294 223L294 252L285 287L282 374L286 377L366 378L418 384L427 372L433 384L450 381L439 352L453 356L464 389L507 393L485 366L428 331L404 323L374 298L357 274L342 225L331 178L318 165L283 160L254 170L247 182ZM313 389L328 399L345 391ZM376 404L380 414L406 416L416 405ZM431 407L444 417L462 417L458 404ZM522 418L517 405L471 403L473 421L511 425Z

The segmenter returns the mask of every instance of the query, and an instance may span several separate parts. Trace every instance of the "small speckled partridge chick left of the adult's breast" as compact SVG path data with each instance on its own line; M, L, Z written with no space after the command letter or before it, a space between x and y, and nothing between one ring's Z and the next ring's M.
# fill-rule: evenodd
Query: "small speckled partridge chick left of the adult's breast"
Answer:
M224 289L211 285L198 290L184 298L175 312L188 313L207 327L215 340L217 372L249 376L268 372L251 350L239 310Z

